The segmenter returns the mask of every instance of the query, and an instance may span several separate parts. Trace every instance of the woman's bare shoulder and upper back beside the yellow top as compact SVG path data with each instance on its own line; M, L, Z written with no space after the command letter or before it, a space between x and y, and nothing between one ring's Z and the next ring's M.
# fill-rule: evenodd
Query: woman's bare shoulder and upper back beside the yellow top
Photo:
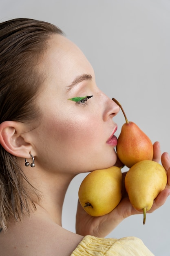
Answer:
M3 256L70 256L82 238L50 220L27 218L0 232L0 251Z

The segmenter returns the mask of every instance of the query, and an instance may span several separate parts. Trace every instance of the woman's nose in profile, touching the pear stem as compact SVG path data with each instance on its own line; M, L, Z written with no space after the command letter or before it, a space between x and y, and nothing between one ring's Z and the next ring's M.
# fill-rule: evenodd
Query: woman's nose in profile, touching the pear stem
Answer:
M109 118L113 118L117 115L119 112L120 107L110 99L109 97L106 97L106 108L104 110L103 120L107 121Z

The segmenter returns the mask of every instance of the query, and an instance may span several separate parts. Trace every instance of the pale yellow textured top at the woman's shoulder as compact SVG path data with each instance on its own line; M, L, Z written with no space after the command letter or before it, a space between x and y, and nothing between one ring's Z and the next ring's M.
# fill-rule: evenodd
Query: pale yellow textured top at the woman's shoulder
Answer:
M154 256L136 237L97 238L85 236L71 256Z

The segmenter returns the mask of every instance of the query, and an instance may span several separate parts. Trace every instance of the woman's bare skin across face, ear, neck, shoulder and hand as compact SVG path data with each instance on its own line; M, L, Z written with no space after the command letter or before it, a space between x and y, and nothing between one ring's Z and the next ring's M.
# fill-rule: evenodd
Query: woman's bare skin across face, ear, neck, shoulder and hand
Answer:
M63 36L51 37L39 68L46 72L46 81L36 99L40 119L30 124L12 121L0 124L0 143L18 157L29 181L42 195L30 219L24 216L22 223L17 224L11 220L7 233L0 233L4 256L69 256L86 234L104 237L124 218L139 213L132 208L124 191L119 205L106 216L93 218L78 203L77 234L62 228L62 205L73 177L121 165L115 154L116 145L107 142L117 128L113 117L119 107L97 88L91 64L79 48ZM82 74L91 75L92 79L83 80L68 90ZM84 104L68 100L87 95L93 97ZM31 162L29 152L35 157L32 169L24 166L24 158ZM159 208L170 193L170 158L168 153L161 156L156 142L153 160L159 162L160 157L168 173L168 184L150 212Z

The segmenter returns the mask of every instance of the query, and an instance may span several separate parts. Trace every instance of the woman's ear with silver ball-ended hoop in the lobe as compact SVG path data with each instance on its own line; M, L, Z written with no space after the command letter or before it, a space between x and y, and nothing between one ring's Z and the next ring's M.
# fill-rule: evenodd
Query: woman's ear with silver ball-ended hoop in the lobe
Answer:
M4 121L0 124L0 144L12 155L29 158L32 146L25 141L25 124L17 121Z

